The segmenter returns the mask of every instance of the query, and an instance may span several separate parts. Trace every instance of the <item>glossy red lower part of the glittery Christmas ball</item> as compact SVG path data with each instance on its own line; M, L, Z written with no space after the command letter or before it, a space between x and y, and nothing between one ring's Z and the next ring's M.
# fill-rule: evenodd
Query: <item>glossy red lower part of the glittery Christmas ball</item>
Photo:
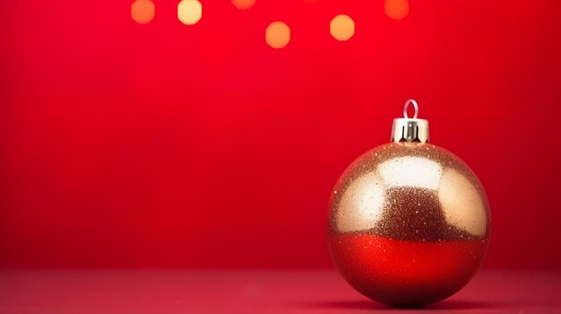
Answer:
M477 272L488 240L408 241L371 234L335 234L332 259L368 298L393 306L422 306L458 292Z

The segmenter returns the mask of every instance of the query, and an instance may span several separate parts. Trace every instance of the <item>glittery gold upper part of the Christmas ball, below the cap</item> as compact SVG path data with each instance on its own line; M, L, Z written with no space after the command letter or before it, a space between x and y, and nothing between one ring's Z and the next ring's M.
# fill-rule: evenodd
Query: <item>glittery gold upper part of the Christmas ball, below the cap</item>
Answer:
M341 175L329 229L396 240L487 240L488 199L453 153L433 144L384 144Z

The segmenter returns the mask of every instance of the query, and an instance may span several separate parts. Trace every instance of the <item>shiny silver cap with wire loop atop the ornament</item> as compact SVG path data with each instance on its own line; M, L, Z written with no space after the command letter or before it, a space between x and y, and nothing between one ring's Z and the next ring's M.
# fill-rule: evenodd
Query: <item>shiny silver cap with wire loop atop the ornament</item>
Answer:
M413 105L415 114L409 118L407 109ZM392 126L392 142L427 143L428 142L428 121L424 118L417 118L419 115L419 105L415 100L405 101L403 106L403 118L394 118Z

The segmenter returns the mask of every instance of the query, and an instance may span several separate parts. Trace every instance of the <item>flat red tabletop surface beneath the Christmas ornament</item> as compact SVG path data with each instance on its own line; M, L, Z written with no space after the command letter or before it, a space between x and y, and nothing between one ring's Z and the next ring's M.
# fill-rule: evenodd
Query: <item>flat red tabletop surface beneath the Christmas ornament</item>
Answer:
M0 278L2 313L395 313L333 271L8 270ZM560 297L558 272L485 271L423 312L559 313Z

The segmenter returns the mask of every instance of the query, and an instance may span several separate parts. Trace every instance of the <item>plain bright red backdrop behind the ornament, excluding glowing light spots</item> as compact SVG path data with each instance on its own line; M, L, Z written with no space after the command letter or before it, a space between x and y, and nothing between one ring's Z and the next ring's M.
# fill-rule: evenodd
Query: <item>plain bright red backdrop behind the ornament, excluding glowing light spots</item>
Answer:
M487 266L561 266L561 2L202 3L0 4L0 266L329 266L332 185L410 97L487 188Z

